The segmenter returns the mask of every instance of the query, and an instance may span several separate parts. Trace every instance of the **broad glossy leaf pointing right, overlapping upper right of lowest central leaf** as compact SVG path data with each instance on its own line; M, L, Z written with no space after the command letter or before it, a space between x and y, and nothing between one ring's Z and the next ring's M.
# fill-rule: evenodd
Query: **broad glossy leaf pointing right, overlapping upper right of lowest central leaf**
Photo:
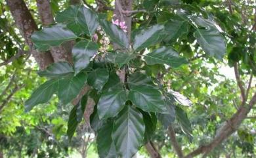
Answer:
M128 98L143 111L166 112L161 92L153 87L144 85L131 87Z

